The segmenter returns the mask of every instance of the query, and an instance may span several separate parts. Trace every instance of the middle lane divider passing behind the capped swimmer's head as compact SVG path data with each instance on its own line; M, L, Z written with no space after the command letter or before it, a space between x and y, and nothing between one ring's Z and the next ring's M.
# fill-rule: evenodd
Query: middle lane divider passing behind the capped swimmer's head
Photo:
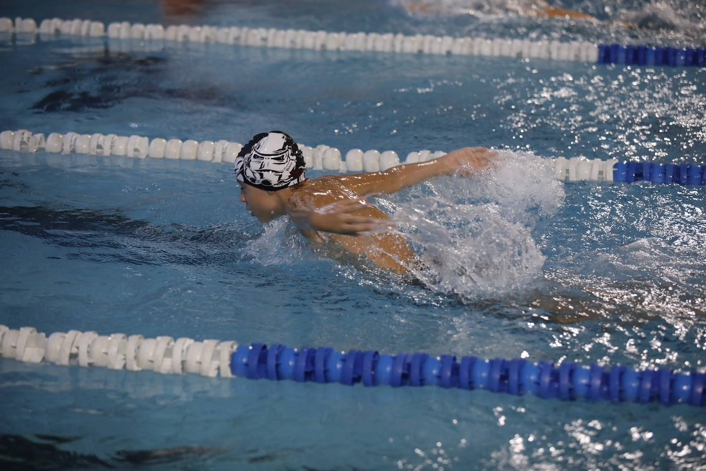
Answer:
M66 134L50 133L47 138L43 133L33 134L27 129L18 131L2 131L0 133L0 148L17 152L34 153L45 150L48 153L78 153L102 156L136 157L136 158L166 158L174 160L201 160L203 162L235 162L243 145L230 141L194 141L187 139L153 138L151 141L144 136L116 136L115 134L93 133ZM371 149L364 152L352 149L342 159L340 150L328 145L317 145L315 148L299 144L304 154L306 167L314 170L330 170L335 172L380 172L402 161L393 150L380 153ZM410 152L404 163L426 162L445 155L442 150L420 150ZM554 177L561 181L652 181L652 183L681 185L706 185L706 165L693 162L660 163L660 162L621 162L616 159L601 160L585 157L547 158L546 162L554 168Z

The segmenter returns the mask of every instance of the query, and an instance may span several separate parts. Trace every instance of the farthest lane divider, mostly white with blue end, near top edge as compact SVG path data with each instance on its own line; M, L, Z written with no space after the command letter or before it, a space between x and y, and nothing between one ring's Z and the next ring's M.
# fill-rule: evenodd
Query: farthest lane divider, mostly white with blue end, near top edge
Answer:
M484 37L451 37L378 32L328 32L323 30L278 30L276 28L217 27L114 22L105 28L100 21L52 18L37 22L32 18L0 18L0 33L52 37L54 35L104 37L120 40L155 40L239 44L256 47L325 49L407 54L453 54L507 56L585 61L598 64L638 64L651 66L706 66L703 47L676 47L640 44L593 44L591 42L530 41Z

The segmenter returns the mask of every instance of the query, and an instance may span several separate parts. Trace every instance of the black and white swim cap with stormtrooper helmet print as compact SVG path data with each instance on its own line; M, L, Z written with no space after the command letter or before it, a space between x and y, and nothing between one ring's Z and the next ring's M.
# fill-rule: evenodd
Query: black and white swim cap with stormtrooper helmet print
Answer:
M304 155L287 133L270 131L253 136L235 159L235 178L266 191L304 181Z

